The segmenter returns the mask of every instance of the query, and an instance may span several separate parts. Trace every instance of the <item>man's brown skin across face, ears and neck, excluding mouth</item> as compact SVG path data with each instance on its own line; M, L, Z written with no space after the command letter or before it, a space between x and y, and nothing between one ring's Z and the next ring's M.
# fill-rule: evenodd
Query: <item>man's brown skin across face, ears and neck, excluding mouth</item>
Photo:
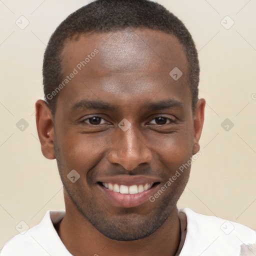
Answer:
M127 29L68 39L64 77L95 48L99 52L58 93L54 117L43 100L36 101L41 150L56 158L64 185L66 214L56 229L73 255L175 255L176 202L190 168L154 202L135 207L113 205L98 182L150 177L157 181L152 194L157 192L199 150L205 100L192 111L188 63L173 35ZM174 67L183 72L176 81L169 76ZM105 105L89 107L85 100ZM118 127L123 118L131 123L127 131ZM80 174L74 183L66 177L72 169Z

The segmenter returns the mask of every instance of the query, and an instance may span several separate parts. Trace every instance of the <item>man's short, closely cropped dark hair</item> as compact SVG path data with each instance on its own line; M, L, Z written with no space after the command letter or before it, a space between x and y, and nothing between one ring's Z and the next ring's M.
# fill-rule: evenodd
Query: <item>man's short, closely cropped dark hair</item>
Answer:
M95 0L71 13L52 33L43 58L43 90L51 112L56 110L52 91L63 81L61 52L67 38L88 32L149 28L173 34L183 46L189 67L192 109L198 100L199 61L191 34L175 15L150 0ZM51 95L51 97L49 97Z

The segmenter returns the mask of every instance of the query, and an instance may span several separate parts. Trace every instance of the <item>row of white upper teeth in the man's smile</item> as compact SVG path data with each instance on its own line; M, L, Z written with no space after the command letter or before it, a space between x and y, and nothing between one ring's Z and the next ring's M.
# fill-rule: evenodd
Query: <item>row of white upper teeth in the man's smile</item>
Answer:
M112 184L112 183L102 183L102 185L111 191L119 192L121 194L136 194L149 189L153 185L153 183L131 185L131 186L118 185L118 184Z

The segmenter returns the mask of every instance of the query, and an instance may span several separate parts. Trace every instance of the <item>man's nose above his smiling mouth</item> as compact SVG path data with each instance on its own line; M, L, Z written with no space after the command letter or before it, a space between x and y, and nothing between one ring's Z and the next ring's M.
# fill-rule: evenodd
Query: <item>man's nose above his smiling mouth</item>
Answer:
M149 163L152 154L141 136L133 125L126 130L118 129L114 137L107 158L110 163L118 163L126 170L132 170L141 163Z

